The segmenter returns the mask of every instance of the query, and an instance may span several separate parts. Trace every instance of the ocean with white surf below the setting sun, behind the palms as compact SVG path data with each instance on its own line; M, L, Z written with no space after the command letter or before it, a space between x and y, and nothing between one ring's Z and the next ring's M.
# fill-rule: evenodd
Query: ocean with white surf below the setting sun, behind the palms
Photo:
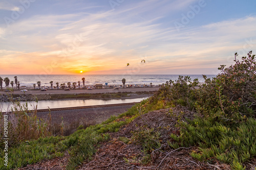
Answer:
M147 84L158 85L165 83L169 80L177 80L179 75L0 75L3 79L8 77L10 81L14 82L14 76L17 76L17 80L20 86L33 86L37 81L41 82L41 86L50 86L50 81L53 81L55 85L56 82L59 84L80 81L82 86L82 78L85 78L86 85L103 84L108 83L108 85L121 85L122 79L126 80L125 84ZM180 75L189 76L191 80L198 78L199 82L204 82L202 75ZM216 77L216 75L206 75L208 78ZM37 85L37 84L36 84ZM3 87L5 83L3 82ZM11 86L11 85L10 85ZM14 85L15 86L15 85Z

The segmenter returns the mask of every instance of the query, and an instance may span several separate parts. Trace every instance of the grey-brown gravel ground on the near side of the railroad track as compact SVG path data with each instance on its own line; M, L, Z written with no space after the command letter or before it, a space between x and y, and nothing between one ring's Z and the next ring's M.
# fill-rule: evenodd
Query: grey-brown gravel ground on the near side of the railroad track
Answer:
M61 123L61 116L63 117L63 123L72 124L74 122L95 122L99 124L106 119L110 118L111 115L119 115L126 112L133 105L125 106L111 106L111 107L98 107L98 108L88 108L88 109L74 109L74 110L61 110L52 111L52 123ZM38 112L37 116L40 118L47 118L49 112Z

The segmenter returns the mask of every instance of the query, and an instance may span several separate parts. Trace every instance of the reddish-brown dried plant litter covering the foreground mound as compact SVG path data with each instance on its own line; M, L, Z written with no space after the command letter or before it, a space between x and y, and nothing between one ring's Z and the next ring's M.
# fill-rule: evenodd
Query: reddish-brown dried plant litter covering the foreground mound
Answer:
M199 162L189 155L195 148L174 150L168 147L170 133L179 133L179 128L175 126L177 117L171 114L180 115L180 120L183 121L185 117L194 117L194 112L182 106L143 114L123 126L119 132L112 133L111 140L100 145L93 160L84 162L79 169L230 169L226 164L208 165ZM161 148L151 152L151 161L147 164L141 164L140 161L146 156L141 152L142 146L130 140L133 135L131 132L139 131L141 127L154 128L154 131L161 133ZM120 137L127 138L127 141L121 141Z

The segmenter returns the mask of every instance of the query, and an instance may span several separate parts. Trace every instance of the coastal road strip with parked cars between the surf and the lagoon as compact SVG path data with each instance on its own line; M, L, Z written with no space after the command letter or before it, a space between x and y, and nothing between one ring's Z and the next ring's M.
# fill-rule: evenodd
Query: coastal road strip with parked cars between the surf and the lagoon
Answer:
M13 94L79 94L79 93L113 93L113 92L138 92L138 91L157 91L159 87L140 87L140 88L103 88L103 89L74 89L70 91L64 91L63 89L59 90L47 90L47 91L39 91L39 90L28 90L26 92L20 92L20 90L14 90ZM6 94L11 92L0 91L0 94Z

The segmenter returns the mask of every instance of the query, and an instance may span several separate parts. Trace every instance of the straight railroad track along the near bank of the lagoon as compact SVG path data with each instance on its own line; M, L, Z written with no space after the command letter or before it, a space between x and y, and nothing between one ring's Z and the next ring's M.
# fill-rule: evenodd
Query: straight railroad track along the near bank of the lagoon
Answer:
M94 106L79 106L79 107L65 107L65 108L53 108L51 111L61 111L61 110L74 110L74 109L88 109L88 108L97 108L97 107L112 107L112 106L125 106L125 105L135 105L140 102L133 103L121 103L121 104L109 104L109 105L94 105ZM49 109L37 109L37 112L49 112ZM11 112L8 112L11 113ZM8 114L7 113L7 114Z

